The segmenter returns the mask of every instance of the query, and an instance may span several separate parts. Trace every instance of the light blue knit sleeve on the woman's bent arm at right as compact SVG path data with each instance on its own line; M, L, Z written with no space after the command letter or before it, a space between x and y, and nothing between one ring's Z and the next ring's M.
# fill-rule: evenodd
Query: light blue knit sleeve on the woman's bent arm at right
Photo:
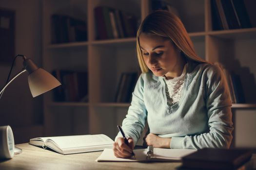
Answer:
M230 147L233 131L232 102L225 76L217 66L206 68L203 74L209 132L173 137L170 144L172 149Z

